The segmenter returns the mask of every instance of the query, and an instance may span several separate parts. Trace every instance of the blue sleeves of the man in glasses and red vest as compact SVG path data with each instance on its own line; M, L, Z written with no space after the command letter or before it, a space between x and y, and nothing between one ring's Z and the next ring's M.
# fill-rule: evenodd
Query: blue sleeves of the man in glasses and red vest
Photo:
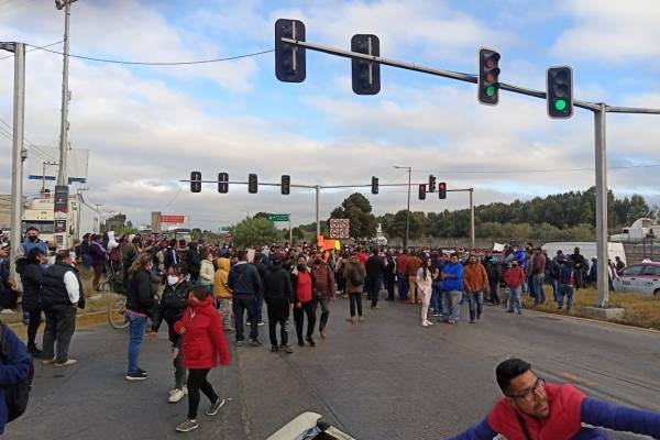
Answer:
M626 408L588 397L582 402L581 413L584 424L660 439L659 413ZM496 436L497 432L491 428L486 418L450 440L493 440ZM603 429L585 427L572 439L557 440L607 440L608 438Z

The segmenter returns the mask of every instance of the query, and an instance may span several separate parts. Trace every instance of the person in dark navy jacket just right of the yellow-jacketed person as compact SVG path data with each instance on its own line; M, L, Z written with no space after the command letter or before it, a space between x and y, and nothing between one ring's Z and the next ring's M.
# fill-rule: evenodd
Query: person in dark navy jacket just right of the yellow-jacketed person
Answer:
M232 308L234 312L235 343L243 345L243 317L248 311L250 319L250 345L261 345L258 341L258 320L254 312L256 295L262 292L258 271L254 264L248 264L248 252L237 253L238 263L229 272L228 285L232 292Z

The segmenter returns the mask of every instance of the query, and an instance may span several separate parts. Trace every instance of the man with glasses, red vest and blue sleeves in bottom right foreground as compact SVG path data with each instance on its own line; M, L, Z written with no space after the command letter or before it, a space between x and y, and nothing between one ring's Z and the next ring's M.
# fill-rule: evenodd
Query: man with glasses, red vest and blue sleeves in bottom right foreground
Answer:
M452 440L492 440L497 435L510 440L605 440L601 428L660 438L660 414L596 400L571 384L546 383L520 359L502 362L495 375L504 397L488 417Z

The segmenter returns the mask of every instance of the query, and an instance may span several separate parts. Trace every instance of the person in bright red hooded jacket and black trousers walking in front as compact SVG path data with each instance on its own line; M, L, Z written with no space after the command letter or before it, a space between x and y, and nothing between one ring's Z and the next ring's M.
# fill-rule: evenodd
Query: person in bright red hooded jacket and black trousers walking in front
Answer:
M174 324L175 331L184 338L184 366L188 370L188 418L176 427L179 432L199 428L197 408L200 391L211 402L207 416L217 415L224 405L224 399L216 394L207 375L218 364L229 365L230 359L222 318L216 310L216 301L207 286L193 287L188 301L184 317Z

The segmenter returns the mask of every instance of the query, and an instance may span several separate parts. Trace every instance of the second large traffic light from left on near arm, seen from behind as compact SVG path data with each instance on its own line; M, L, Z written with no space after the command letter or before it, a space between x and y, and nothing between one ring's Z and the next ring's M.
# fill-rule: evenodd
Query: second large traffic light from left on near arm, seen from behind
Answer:
M376 35L356 34L351 38L351 51L381 56L381 42ZM381 64L366 59L351 59L353 91L356 95L376 95L381 91Z

